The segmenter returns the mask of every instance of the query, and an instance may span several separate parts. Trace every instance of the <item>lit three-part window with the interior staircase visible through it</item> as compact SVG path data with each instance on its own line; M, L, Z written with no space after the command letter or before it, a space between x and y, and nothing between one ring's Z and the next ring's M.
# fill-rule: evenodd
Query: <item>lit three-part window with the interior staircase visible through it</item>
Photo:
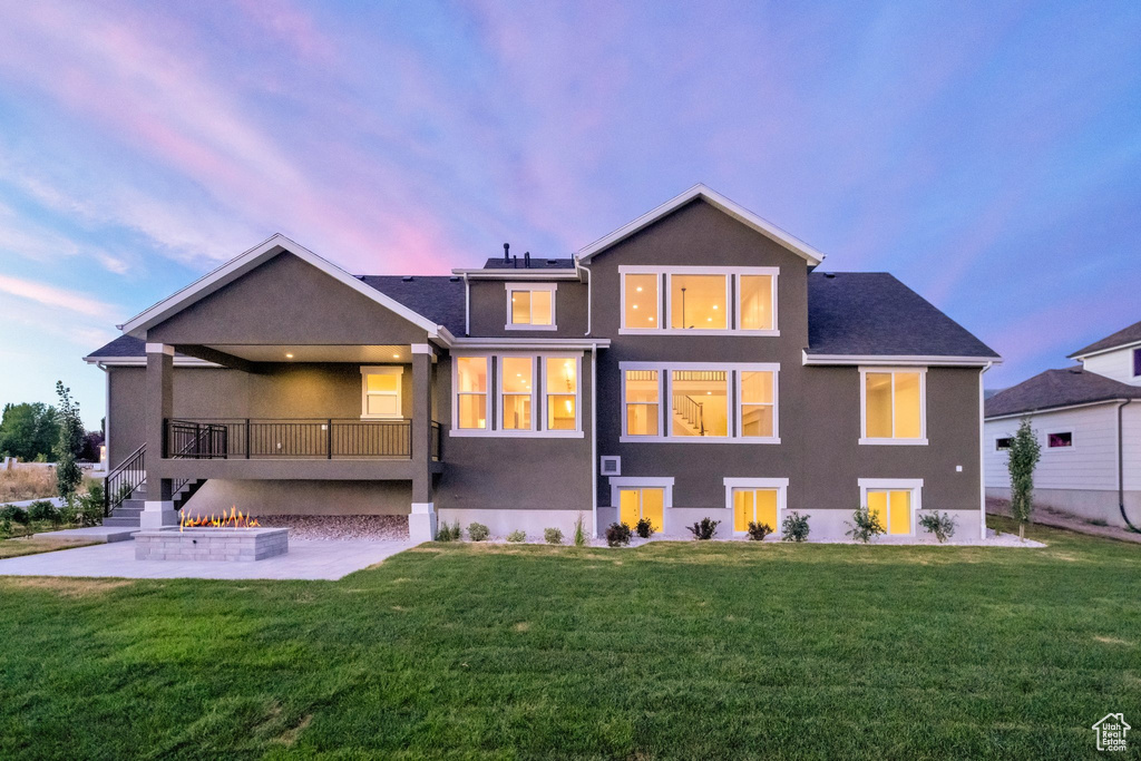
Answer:
M778 444L774 364L622 363L624 440Z

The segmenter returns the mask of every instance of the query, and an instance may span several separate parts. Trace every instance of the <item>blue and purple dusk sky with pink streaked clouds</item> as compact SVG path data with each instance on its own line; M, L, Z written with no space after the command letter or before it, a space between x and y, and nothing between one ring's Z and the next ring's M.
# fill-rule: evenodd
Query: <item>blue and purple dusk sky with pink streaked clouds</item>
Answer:
M1141 2L0 0L0 403L281 232L569 256L705 183L1018 382L1141 319Z

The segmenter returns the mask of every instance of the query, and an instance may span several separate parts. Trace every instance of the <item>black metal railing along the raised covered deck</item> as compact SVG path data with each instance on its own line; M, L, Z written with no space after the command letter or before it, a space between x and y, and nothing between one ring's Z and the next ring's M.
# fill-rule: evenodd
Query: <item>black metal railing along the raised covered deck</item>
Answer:
M431 458L440 459L440 426L431 424ZM356 460L412 458L411 420L172 419L170 458L245 460Z

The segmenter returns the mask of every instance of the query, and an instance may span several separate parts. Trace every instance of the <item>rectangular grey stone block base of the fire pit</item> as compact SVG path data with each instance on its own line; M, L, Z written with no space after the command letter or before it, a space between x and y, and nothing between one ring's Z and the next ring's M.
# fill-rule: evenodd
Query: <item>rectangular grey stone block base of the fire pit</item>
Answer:
M288 528L161 528L135 534L136 560L265 560L289 552Z

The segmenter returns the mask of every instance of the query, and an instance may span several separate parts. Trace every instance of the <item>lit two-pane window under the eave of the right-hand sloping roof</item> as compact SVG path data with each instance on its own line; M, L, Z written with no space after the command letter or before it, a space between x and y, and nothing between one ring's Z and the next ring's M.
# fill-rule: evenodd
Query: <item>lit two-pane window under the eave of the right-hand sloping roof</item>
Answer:
M926 444L923 412L924 379L921 370L860 371L863 380L864 436L861 444Z

